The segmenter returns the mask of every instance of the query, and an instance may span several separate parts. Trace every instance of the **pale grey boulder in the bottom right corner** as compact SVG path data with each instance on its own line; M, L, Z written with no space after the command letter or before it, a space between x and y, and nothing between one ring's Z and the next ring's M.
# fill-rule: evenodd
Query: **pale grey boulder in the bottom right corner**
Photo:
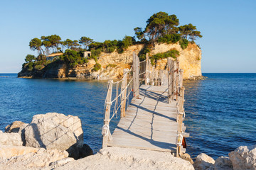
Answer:
M234 170L256 169L256 145L238 147L228 156Z

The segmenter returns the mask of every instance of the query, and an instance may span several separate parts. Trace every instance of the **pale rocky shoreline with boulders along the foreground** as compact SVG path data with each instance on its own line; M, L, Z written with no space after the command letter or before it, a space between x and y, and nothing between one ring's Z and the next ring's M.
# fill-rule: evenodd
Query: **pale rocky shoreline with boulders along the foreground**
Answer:
M256 169L256 145L241 146L214 160L199 154L181 158L168 152L107 147L92 155L83 143L81 120L60 113L34 115L31 123L15 121L0 131L0 169Z

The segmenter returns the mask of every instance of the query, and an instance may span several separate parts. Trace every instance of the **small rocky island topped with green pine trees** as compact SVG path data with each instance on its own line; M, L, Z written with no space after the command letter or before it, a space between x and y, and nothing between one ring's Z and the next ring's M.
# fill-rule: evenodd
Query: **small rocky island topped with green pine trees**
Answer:
M134 28L135 36L95 42L92 38L62 40L59 35L33 38L29 47L38 56L26 55L18 77L43 79L118 79L130 68L132 52L145 60L149 54L156 69L166 68L167 57L177 57L184 79L201 77L201 49L195 40L201 32L191 23L179 26L176 15L154 13L146 28Z

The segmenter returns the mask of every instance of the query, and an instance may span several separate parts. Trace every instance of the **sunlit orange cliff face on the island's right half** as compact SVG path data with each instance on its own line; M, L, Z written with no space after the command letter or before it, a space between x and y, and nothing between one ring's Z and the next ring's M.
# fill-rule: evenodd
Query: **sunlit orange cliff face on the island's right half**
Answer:
M127 48L122 54L117 52L104 53L100 55L98 63L102 65L102 70L99 71L100 78L104 79L114 79L122 77L119 73L122 73L122 69L129 68L132 64L132 54L133 52L139 53L144 45L132 45ZM184 79L193 79L193 77L201 77L201 49L196 44L189 44L185 50L182 50L181 46L178 44L156 44L154 49L151 50L150 55L156 55L160 52L166 52L169 50L176 49L180 52L178 57L180 69L183 69ZM158 60L156 62L156 69L166 68L167 59ZM109 64L114 64L116 67L110 69L107 67ZM113 77L107 76L110 71L116 74L111 74Z

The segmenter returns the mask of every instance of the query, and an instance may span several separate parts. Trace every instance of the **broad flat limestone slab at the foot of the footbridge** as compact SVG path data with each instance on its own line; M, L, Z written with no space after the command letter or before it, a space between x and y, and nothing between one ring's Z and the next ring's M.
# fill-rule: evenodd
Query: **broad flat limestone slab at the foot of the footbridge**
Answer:
M191 163L174 157L171 153L156 152L142 149L107 147L101 149L99 153L83 159L69 162L60 169L182 169L192 170Z

